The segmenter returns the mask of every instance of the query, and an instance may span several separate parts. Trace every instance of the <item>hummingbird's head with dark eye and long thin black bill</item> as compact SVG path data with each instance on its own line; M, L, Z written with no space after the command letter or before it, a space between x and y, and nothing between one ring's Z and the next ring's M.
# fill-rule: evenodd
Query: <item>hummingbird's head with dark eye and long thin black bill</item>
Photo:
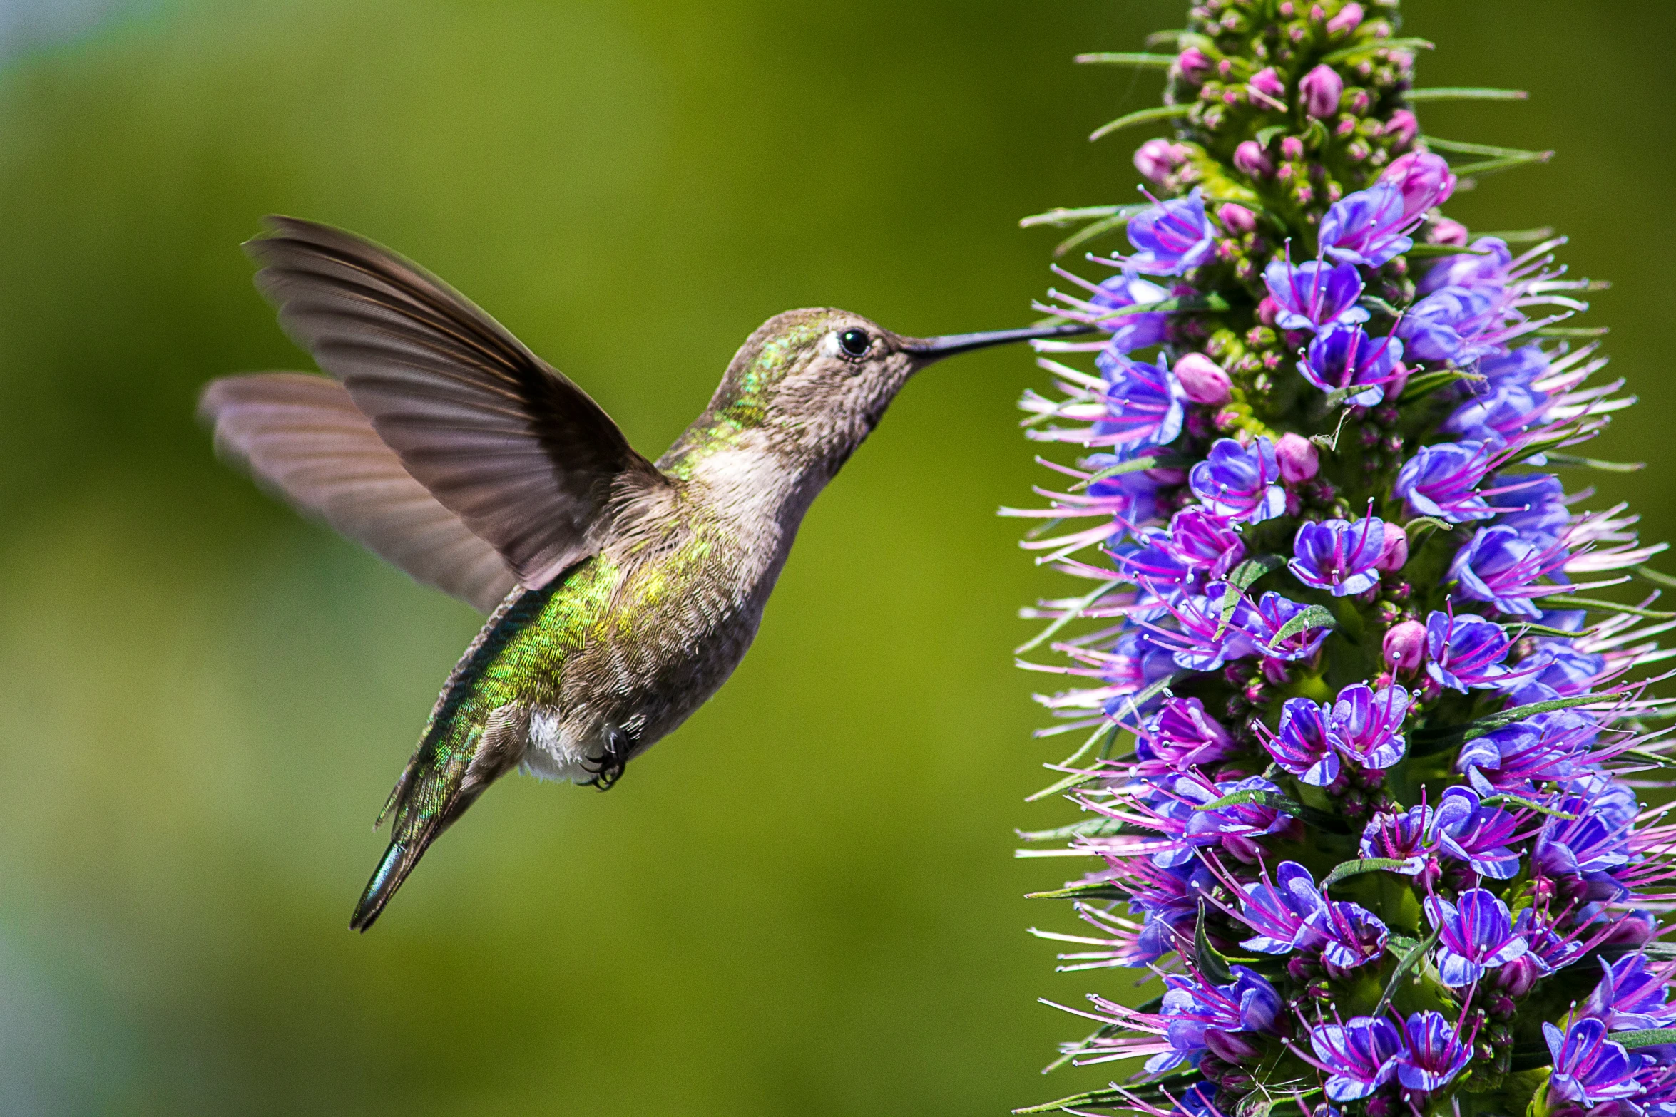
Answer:
M711 412L761 429L798 457L843 461L920 368L975 348L1084 332L1073 323L910 338L846 310L788 310L739 348Z

